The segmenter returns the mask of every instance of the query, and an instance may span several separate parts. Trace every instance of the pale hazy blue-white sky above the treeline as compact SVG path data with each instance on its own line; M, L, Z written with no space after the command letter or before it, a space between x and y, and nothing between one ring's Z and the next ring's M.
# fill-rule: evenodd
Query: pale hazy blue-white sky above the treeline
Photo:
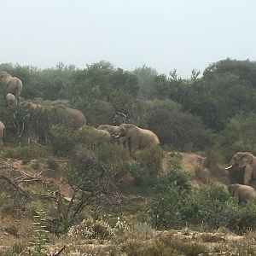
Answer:
M254 0L0 0L0 63L85 67L110 61L159 73L256 60Z

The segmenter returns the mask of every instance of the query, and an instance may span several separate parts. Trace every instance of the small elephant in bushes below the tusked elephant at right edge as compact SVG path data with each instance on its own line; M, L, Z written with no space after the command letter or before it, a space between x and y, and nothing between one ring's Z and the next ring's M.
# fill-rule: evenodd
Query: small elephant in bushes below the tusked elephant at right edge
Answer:
M248 200L256 198L256 191L253 187L241 184L231 184L228 190L232 196L235 196L238 202L247 202Z

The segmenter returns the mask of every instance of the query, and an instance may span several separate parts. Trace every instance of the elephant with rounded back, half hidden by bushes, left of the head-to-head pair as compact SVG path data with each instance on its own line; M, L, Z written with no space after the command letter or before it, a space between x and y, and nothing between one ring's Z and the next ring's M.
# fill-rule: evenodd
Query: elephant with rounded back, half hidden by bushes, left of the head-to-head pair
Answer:
M54 123L72 123L72 126L77 129L81 129L86 124L86 118L82 111L75 108L67 108L63 104L51 106L49 114Z

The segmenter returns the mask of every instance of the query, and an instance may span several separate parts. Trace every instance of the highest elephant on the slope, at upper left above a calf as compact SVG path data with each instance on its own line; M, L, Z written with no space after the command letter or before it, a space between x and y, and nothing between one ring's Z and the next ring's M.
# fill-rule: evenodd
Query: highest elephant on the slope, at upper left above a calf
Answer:
M0 79L4 84L8 86L8 92L13 94L16 100L19 102L20 92L23 88L23 84L20 79L12 77L9 73L2 71L0 72Z

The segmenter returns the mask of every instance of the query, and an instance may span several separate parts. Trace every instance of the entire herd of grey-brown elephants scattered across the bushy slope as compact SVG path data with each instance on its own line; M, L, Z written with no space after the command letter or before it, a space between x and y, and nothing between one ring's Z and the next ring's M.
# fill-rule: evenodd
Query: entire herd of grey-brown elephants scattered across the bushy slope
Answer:
M20 93L23 88L20 79L12 77L5 71L0 72L0 79L8 88L8 94L5 96L5 101L9 107L19 106L26 111L30 118L38 109L44 108L33 102L20 102ZM75 129L82 129L82 126L86 124L84 113L79 109L67 108L67 106L57 103L49 107L48 110L56 121L58 117L65 115L67 119L73 123ZM3 145L4 130L5 125L0 121L0 145ZM149 148L160 144L159 138L153 131L139 128L136 125L99 125L96 131L110 139L117 139L119 143L129 150L129 153L133 158L136 158L138 149ZM238 201L247 201L255 198L256 191L250 186L250 182L252 179L256 179L256 157L249 152L237 152L230 160L230 166L225 169L230 170L235 166L244 168L243 184L230 184L228 187L230 194L235 196Z

